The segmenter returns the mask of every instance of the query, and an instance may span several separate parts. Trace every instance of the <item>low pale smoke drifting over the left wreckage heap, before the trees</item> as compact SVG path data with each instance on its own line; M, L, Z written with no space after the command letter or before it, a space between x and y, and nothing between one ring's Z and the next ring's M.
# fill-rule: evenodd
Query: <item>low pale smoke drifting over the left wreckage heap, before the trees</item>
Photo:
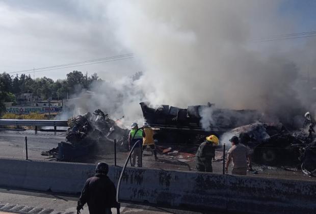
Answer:
M144 94L138 87L138 81L130 77L121 78L116 82L95 82L91 91L78 90L68 101L67 108L60 119L68 119L74 115L93 113L100 109L109 114L118 125L128 127L132 122L143 122L139 100Z

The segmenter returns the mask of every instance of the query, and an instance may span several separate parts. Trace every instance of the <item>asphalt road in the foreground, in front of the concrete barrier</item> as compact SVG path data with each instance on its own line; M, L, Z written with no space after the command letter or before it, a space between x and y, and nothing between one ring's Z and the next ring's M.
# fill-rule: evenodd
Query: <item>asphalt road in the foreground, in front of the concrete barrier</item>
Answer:
M75 214L78 197L79 196L77 195L0 188L0 211L32 214ZM84 209L81 210L81 213L89 213L87 205L84 206ZM117 213L116 208L112 208L112 213ZM195 214L202 212L121 203L120 213ZM209 210L207 213L215 214L224 212L212 212Z

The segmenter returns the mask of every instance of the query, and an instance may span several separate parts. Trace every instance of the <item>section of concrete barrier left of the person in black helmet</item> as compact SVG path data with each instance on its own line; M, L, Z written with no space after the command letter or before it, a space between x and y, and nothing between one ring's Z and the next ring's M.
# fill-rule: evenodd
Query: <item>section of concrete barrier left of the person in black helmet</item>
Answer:
M86 179L94 174L94 166L1 158L0 172L1 186L78 193Z

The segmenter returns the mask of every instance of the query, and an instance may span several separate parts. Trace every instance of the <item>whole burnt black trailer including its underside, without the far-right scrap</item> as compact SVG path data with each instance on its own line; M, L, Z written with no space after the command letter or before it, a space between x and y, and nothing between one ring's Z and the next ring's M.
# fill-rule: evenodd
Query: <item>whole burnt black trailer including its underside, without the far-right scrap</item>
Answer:
M192 105L187 109L149 102L140 105L144 119L155 129L155 139L172 144L197 144L210 134L221 136L260 117L253 110L217 109L211 103Z

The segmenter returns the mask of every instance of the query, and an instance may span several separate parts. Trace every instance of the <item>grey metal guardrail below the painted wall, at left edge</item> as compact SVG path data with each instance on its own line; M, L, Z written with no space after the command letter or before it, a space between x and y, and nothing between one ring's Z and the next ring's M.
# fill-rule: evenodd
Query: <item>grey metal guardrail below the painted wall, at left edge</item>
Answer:
M67 120L0 120L1 125L21 126L64 126L68 127Z

